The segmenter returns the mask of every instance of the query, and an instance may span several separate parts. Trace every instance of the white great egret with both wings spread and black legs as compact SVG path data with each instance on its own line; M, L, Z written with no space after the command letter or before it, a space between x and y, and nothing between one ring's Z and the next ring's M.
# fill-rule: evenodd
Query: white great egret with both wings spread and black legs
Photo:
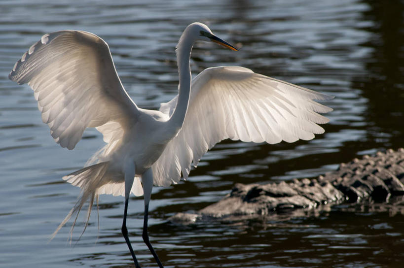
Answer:
M129 195L143 194L143 239L162 268L147 233L153 184L168 186L181 175L186 179L191 162L196 167L208 149L226 138L273 144L309 140L324 132L317 124L329 120L318 112L332 109L313 100L330 96L237 66L207 68L191 81L190 54L198 40L237 50L202 23L187 26L176 48L179 93L158 111L133 102L116 73L108 44L93 33L45 34L14 65L8 77L34 90L42 121L60 146L72 150L86 128L96 128L107 143L84 168L63 178L81 192L53 236L75 214L73 232L86 201L84 230L100 194L123 195L122 234L139 268L126 215Z

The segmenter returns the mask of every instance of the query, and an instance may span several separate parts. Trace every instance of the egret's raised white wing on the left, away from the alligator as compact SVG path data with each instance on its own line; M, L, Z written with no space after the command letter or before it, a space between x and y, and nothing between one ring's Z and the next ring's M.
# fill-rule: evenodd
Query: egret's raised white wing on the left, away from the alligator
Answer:
M108 44L93 33L66 30L43 35L8 77L31 86L42 121L55 141L68 149L85 128L113 122L124 131L138 112L116 73ZM104 139L110 139L109 127L97 129L105 130Z

